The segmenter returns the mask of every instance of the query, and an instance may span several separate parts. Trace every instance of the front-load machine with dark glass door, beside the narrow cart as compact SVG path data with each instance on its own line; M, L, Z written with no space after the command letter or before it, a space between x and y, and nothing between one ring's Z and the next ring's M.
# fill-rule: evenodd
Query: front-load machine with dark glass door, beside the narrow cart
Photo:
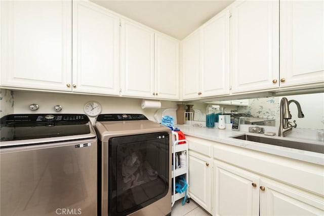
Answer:
M95 129L101 215L170 215L171 129L142 114L101 114Z

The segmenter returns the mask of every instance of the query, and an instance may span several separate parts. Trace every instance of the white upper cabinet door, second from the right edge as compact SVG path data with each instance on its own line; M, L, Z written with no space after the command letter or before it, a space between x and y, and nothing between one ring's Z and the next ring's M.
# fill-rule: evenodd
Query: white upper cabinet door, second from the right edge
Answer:
M231 15L232 92L278 87L279 1L237 1Z

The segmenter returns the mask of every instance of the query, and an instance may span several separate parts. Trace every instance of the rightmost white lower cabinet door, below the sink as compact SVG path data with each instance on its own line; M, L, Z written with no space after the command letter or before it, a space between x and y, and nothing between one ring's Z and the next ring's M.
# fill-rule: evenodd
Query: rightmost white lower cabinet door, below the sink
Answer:
M267 179L260 184L260 215L324 215L322 197Z

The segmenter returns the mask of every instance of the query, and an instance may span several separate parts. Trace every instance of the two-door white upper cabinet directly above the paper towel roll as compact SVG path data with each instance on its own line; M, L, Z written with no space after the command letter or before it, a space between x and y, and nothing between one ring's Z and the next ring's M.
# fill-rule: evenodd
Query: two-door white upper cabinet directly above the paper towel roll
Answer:
M121 95L179 100L179 41L121 21Z

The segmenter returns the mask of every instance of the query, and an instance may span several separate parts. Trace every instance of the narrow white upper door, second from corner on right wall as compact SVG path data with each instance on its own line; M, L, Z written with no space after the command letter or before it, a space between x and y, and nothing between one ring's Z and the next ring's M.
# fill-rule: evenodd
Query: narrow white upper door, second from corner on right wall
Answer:
M229 11L201 27L201 96L229 94Z

